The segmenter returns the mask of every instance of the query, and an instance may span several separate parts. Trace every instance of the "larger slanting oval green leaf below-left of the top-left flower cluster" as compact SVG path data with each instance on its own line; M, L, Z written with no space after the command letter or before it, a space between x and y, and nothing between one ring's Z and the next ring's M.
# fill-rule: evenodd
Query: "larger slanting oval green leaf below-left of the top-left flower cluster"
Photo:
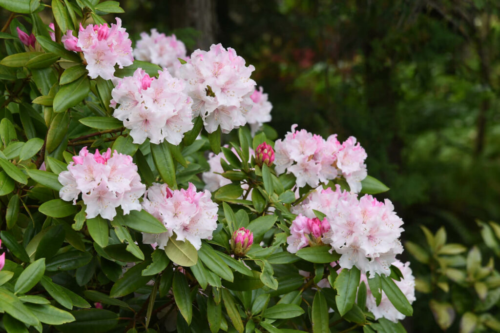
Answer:
M81 102L90 92L90 81L86 76L79 78L68 84L60 87L59 91L54 96L53 108L54 112L64 112L70 107ZM114 118L110 118L114 119ZM80 122L83 119L80 119ZM116 119L114 119L116 120ZM115 127L113 127L115 128Z

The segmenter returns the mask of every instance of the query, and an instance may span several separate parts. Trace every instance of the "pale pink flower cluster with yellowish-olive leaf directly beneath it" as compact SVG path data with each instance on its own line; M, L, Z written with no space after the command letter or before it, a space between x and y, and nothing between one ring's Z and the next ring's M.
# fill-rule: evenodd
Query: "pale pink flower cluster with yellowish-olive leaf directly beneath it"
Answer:
M178 241L188 240L196 250L202 239L211 239L217 228L218 206L210 199L210 192L196 192L189 183L187 190L171 191L166 184L154 183L144 194L144 210L157 218L166 227L162 234L143 234L145 244L162 249L168 238L175 233Z

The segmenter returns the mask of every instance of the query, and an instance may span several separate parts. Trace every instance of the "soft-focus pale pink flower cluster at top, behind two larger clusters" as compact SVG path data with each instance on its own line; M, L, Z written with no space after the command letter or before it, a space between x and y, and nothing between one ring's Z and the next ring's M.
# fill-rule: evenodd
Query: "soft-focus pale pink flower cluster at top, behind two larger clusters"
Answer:
M172 76L180 68L178 58L187 60L186 47L174 34L166 36L151 29L151 34L142 32L140 40L135 44L133 56L137 60L149 61L161 67L166 67Z

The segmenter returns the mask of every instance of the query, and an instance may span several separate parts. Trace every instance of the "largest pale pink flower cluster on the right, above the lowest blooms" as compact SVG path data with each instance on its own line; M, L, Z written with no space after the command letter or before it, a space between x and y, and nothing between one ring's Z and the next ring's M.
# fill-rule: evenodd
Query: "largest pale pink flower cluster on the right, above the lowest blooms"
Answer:
M313 218L314 210L326 216L330 231L322 242L340 254L339 265L356 266L362 273L390 273L395 256L402 253L399 236L403 221L394 213L390 200L379 202L370 195L359 200L355 194L331 188L314 190L293 213Z

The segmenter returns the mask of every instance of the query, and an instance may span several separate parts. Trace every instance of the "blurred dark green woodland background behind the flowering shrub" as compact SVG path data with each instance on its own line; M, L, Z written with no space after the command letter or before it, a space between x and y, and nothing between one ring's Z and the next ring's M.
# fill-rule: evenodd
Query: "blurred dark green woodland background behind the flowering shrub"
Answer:
M368 173L391 188L381 197L403 239L444 225L449 241L471 245L476 218L500 220L500 1L120 2L135 40L156 27L188 52L236 49L269 94L279 137L293 123L355 136ZM421 302L406 326L432 332L427 315Z

